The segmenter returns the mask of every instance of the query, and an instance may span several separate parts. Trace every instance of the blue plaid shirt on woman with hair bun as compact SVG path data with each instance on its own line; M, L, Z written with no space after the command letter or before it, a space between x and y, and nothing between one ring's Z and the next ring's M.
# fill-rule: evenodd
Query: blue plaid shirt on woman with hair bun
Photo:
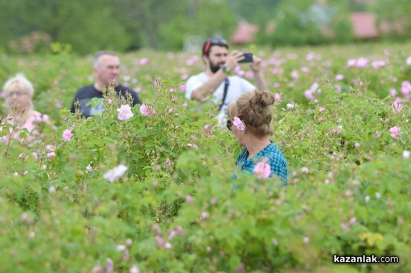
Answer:
M271 141L269 145L266 145L264 149L258 152L252 158L249 158L247 161L247 157L249 156L249 152L247 148L242 150L241 154L237 157L236 165L242 169L242 172L248 171L250 174L253 174L254 167L263 158L269 158L269 164L271 166L271 176L276 174L281 178L284 185L287 185L287 178L288 178L288 169L287 169L287 161L284 155L280 150L278 150L277 146ZM234 175L234 178L236 176Z

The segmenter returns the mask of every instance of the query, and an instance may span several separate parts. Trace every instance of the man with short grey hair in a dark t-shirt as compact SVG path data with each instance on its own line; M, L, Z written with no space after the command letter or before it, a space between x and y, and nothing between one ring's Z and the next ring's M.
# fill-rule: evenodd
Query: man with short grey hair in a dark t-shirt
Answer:
M101 114L104 110L103 104L96 107L87 105L94 97L103 98L103 88L108 88L114 84L114 91L123 98L127 98L127 93L133 99L133 106L141 104L136 92L120 84L120 59L114 51L98 51L95 56L94 69L97 81L94 84L80 88L71 104L71 112L75 112L76 104L83 117L92 117Z

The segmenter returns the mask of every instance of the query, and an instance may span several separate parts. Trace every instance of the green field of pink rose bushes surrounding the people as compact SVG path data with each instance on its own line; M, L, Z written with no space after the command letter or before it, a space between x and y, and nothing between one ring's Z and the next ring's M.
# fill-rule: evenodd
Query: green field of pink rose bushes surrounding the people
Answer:
M87 120L69 108L92 56L0 56L1 84L25 73L51 121L1 125L0 272L411 272L410 48L247 48L275 93L287 187L232 178L242 148L214 104L184 98L199 52L121 54L144 105L109 88ZM253 82L248 64L235 72Z

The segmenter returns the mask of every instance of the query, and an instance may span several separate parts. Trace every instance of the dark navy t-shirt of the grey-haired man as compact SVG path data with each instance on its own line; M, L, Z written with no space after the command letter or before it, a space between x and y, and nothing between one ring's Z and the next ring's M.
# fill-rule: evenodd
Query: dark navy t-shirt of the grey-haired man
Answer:
M119 84L118 86L116 86L116 88L114 88L116 93L121 94L121 96L124 97L124 98L127 97L126 93L130 93L130 95L132 95L132 97L133 97L133 106L136 105L136 104L141 104L141 101L138 98L137 93L134 92L134 91L129 91L129 89L130 88L127 88L127 87L125 87L121 84ZM80 112L82 112L83 117L87 118L87 117L92 117L96 114L101 114L101 112L103 112L103 110L104 110L103 104L97 105L96 108L92 108L91 105L86 106L86 104L88 104L88 102L90 102L93 97L103 98L103 92L98 91L94 87L94 84L79 88L79 91L77 91L77 93L75 93L73 103L71 104L71 112L75 112L74 104L78 100L80 102L79 110L80 110Z

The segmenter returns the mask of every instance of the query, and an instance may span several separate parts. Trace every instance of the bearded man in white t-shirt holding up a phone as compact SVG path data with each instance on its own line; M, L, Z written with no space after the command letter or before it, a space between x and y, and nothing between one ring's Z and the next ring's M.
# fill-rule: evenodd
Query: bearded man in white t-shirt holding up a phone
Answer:
M223 39L209 39L203 44L203 62L206 70L191 76L186 82L186 98L204 102L211 97L219 106L217 119L223 121L227 113L227 106L236 100L242 93L258 88L268 90L266 80L262 75L261 59L253 56L250 63L256 86L238 75L232 75L233 69L240 60L244 59L241 51L228 52L227 41Z

